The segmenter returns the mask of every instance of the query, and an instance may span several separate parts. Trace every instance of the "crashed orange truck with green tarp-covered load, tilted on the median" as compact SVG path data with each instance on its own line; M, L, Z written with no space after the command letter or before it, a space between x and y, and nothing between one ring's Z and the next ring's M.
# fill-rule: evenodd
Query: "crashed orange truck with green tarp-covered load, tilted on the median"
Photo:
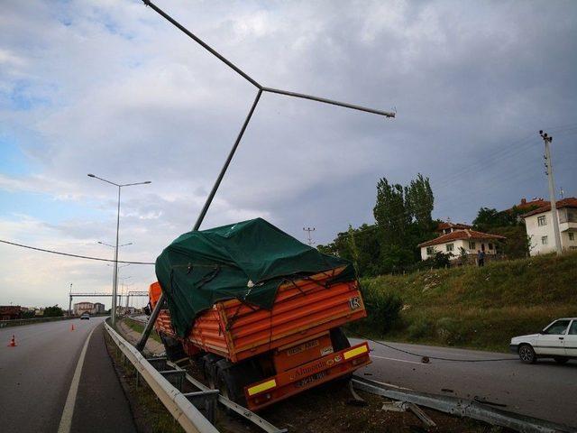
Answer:
M169 358L191 358L211 387L251 410L371 363L369 345L351 346L341 329L367 315L350 263L260 218L180 236L156 271L150 306L163 291L168 309L154 326ZM200 301L210 307L188 322Z

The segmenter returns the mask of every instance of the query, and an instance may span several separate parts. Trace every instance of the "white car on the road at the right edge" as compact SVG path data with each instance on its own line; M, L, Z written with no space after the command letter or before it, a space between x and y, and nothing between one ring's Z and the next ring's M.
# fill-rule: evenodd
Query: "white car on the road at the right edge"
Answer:
M553 358L559 364L577 359L577 318L558 318L538 334L514 336L509 345L525 364Z

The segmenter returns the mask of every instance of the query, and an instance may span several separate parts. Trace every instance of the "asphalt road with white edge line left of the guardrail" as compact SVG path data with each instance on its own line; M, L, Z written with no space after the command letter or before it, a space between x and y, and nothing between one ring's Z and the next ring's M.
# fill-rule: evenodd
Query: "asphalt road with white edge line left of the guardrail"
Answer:
M113 421L125 427L122 431L131 431L132 414L105 351L103 327L98 327L103 321L72 319L0 329L3 432L58 431L79 355L93 329L71 401L70 431L92 431L87 427ZM13 334L17 346L8 347ZM103 419L106 413L115 419Z

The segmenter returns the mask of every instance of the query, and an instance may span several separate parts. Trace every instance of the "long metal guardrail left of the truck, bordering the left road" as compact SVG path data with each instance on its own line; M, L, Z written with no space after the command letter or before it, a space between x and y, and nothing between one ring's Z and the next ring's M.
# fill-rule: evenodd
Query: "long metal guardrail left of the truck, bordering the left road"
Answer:
M164 407L169 410L186 432L218 433L215 426L205 418L200 410L197 410L188 400L188 397L158 372L133 345L128 343L107 323L105 323L105 329L124 356L133 364L137 374L149 384L152 392L156 394Z

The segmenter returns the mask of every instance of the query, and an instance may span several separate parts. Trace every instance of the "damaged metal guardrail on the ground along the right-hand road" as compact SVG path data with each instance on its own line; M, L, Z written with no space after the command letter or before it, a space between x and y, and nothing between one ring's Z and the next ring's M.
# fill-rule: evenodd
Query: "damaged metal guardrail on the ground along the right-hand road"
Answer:
M573 428L561 424L519 415L507 410L499 410L478 401L392 388L384 383L371 381L357 375L353 376L352 383L354 388L364 392L371 392L392 400L407 401L459 417L478 419L522 433L570 433L575 431Z

